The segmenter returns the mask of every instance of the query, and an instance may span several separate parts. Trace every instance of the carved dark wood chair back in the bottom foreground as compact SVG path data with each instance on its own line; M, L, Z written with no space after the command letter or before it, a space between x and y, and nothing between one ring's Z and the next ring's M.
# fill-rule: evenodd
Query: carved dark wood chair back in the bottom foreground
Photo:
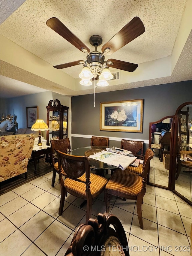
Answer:
M127 237L119 219L109 213L99 213L97 218L77 227L64 256L129 256Z

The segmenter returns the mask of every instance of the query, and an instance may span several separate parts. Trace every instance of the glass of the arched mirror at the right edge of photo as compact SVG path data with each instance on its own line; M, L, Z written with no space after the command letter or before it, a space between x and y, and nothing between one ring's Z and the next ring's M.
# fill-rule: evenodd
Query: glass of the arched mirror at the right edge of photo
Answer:
M182 104L176 112L175 137L181 136L179 154L176 155L174 193L192 205L192 102ZM173 156L174 157L174 156ZM173 181L174 183L174 181Z

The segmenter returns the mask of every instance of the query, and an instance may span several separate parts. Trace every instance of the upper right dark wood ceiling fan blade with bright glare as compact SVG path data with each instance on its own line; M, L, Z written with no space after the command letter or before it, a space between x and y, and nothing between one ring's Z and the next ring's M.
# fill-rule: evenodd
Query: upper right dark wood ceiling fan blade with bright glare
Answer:
M110 52L106 55L110 55L126 44L130 43L132 40L140 36L145 32L145 27L143 22L139 17L134 17L125 27L123 27L114 37L112 37L104 46L102 47L102 53L106 48L110 48Z

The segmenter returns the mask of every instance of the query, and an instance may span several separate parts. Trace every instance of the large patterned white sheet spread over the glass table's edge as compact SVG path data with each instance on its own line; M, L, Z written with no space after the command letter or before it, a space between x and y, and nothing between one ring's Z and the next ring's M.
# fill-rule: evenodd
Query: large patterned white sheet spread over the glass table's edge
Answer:
M90 155L89 158L98 160L106 164L117 166L122 170L125 170L130 164L132 164L137 159L137 157L116 154L113 152L107 152L105 150L102 150L101 152L96 153L94 155Z

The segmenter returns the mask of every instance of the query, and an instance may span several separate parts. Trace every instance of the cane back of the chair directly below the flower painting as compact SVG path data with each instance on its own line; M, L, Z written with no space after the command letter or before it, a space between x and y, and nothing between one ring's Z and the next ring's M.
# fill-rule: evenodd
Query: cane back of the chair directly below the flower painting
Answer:
M144 141L137 140L121 140L121 149L129 150L134 156L143 159L143 143ZM140 152L140 154L138 154Z

